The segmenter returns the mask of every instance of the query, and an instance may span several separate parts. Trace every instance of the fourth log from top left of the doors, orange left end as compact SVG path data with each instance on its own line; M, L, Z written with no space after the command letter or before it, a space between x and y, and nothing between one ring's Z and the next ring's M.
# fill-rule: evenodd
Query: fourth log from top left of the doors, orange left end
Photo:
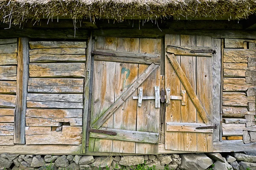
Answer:
M38 63L29 64L29 77L83 78L85 63Z

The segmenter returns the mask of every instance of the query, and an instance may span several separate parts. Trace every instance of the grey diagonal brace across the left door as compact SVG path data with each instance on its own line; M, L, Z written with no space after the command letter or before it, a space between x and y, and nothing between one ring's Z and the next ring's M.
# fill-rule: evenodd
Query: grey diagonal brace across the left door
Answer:
M109 107L108 110L104 112L96 122L93 123L92 127L99 129L99 127L101 127L102 124L104 124L104 122L107 121L111 115L113 115L113 113L126 101L128 97L130 97L130 95L133 94L133 92L140 86L140 84L142 84L145 79L148 78L148 76L151 75L155 69L157 69L158 66L159 65L152 63L145 70L145 72L143 72L142 75L140 75L140 77L134 81L134 83L131 84L131 86L115 101L115 103L112 104L111 107Z

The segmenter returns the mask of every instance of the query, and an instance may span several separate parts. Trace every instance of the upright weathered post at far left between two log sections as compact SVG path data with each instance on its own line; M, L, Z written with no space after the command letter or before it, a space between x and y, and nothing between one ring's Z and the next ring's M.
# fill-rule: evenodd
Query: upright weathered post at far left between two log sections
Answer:
M14 143L25 144L26 96L29 78L29 38L19 38Z

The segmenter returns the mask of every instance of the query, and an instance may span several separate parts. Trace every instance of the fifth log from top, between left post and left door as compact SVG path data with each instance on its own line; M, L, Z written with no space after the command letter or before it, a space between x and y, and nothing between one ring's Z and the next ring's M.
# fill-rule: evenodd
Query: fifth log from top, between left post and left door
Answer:
M83 78L29 78L28 92L83 93Z

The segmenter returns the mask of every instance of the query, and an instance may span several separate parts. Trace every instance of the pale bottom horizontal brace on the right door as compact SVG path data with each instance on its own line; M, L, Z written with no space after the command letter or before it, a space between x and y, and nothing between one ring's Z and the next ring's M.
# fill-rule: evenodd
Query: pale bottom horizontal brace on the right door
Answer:
M198 123L166 123L167 132L213 133L213 128L196 129L197 127L207 127L207 125Z

